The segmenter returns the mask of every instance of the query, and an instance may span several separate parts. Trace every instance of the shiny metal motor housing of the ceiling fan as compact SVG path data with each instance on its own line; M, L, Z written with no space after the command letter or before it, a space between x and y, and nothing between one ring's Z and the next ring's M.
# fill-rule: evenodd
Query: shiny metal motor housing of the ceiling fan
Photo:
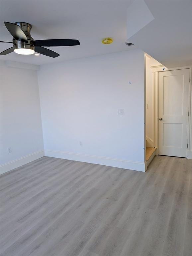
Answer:
M26 22L15 22L14 24L18 25L23 32L25 33L28 42L21 42L13 38L13 48L15 49L31 49L35 51L35 45L33 43L33 38L31 37L31 24L26 23Z

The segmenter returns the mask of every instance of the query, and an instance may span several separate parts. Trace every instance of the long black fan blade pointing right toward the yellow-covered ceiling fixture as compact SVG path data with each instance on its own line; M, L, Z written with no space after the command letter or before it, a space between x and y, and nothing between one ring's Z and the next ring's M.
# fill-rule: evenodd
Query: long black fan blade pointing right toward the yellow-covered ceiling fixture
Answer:
M80 45L76 39L47 39L33 41L35 46L73 46Z

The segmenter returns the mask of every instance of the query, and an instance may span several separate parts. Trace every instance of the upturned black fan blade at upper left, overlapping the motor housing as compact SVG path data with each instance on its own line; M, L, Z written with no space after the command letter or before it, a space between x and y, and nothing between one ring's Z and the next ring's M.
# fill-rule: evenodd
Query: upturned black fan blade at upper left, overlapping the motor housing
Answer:
M10 23L10 22L4 22L6 28L9 30L9 32L11 33L11 35L18 41L21 42L28 42L28 39L25 35L25 33L23 32L23 30L20 28L19 25L14 24L14 23Z

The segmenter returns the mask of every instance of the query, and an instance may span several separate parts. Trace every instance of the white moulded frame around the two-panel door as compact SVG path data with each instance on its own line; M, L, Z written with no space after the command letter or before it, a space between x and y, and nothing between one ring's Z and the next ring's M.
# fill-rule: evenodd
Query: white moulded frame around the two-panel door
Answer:
M189 117L188 117L188 133L187 133L187 158L192 159L192 66L166 68L161 66L151 66L153 73L153 130L154 130L154 148L156 148L156 154L158 154L158 74L159 72L178 70L178 69L190 69L190 82L189 82ZM145 134L146 136L146 134ZM187 146L187 145L186 145Z

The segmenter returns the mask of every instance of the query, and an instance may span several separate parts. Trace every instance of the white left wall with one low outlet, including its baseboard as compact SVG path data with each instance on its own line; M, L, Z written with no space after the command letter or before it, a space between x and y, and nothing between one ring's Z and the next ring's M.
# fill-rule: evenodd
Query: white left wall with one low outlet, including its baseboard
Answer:
M0 94L3 173L44 155L37 70L1 62Z

